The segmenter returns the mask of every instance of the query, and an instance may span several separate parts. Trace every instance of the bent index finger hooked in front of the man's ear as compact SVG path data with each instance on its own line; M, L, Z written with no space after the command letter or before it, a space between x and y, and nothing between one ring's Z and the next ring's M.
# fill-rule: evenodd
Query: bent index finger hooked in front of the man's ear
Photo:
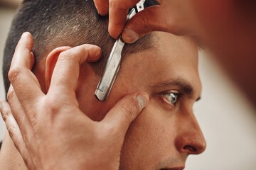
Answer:
M48 93L68 96L65 98L67 101L77 101L75 89L78 84L80 65L86 61L95 62L100 57L101 49L96 45L80 45L61 52L53 70Z

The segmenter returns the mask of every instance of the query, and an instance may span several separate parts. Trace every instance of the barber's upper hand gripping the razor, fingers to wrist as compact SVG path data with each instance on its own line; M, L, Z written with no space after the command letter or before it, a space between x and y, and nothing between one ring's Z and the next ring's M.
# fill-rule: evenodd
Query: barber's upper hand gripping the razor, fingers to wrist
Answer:
M152 31L165 31L175 35L195 35L198 24L189 1L159 0L161 5L151 6L137 13L126 24L129 8L139 0L94 0L100 15L109 13L109 33L132 43ZM123 30L123 32L122 32Z

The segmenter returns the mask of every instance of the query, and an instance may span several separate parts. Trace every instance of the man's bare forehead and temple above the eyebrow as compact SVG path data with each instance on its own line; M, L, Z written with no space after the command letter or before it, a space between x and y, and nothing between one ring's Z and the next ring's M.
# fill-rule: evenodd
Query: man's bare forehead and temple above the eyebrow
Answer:
M127 79L129 86L157 86L171 79L186 79L198 86L198 49L193 41L169 33L157 32L155 36L153 48L130 55L122 62L119 77Z

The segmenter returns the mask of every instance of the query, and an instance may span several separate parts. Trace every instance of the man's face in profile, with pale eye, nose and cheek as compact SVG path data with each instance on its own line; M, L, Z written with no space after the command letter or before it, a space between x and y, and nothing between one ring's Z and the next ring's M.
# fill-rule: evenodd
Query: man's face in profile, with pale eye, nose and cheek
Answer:
M206 148L193 115L201 95L198 51L188 38L156 33L154 48L127 57L107 101L92 98L88 87L78 90L82 111L101 120L127 94L144 91L149 103L130 125L124 139L120 169L182 169L188 154ZM81 76L82 77L82 76ZM85 84L88 82L85 82ZM83 83L82 83L83 84Z

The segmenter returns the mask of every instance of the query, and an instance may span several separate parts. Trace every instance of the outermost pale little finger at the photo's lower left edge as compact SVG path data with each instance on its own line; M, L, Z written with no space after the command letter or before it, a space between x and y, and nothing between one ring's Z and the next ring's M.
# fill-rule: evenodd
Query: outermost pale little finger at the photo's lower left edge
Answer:
M0 111L2 118L6 123L9 136L11 137L11 140L13 140L15 147L18 149L18 152L20 152L21 157L23 157L25 163L29 165L29 167L33 167L33 162L30 154L28 153L26 144L23 141L21 130L18 128L18 124L16 123L16 120L11 113L11 108L6 101L0 101Z

